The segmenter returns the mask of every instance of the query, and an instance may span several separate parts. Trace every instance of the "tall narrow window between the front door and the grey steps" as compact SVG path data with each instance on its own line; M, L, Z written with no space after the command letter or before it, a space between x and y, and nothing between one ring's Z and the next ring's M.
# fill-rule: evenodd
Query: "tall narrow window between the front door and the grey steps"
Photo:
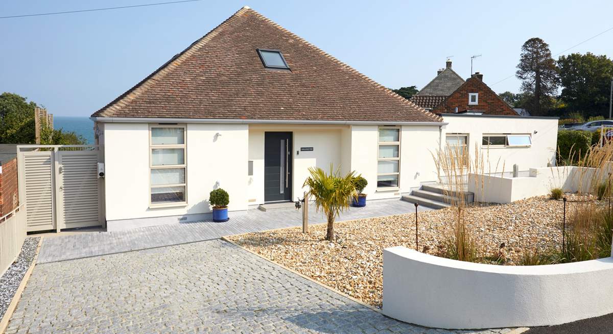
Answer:
M400 179L400 128L379 128L377 188L398 188Z

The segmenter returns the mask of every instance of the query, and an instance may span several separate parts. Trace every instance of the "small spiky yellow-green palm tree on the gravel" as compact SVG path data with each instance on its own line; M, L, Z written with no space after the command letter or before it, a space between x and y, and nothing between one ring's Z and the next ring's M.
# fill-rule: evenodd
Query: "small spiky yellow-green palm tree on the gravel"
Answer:
M322 209L328 220L326 240L334 240L334 219L343 210L349 207L349 201L356 198L357 191L354 185L356 172L352 171L345 176L340 175L340 168L334 172L330 165L330 174L321 168L309 168L311 176L305 180L302 187L308 186L307 195L315 199L316 210Z

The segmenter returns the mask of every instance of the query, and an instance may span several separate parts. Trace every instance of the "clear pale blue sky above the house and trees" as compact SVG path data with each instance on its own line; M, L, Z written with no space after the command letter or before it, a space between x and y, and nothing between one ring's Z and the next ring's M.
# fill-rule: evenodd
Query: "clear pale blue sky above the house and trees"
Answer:
M175 0L2 1L0 17ZM242 6L390 88L421 89L452 56L496 92L518 92L522 44L556 55L613 28L613 1L197 1L0 19L0 92L88 117ZM613 56L613 30L562 54ZM554 57L557 59L557 56ZM507 78L504 81L504 78ZM498 82L501 81L501 82Z

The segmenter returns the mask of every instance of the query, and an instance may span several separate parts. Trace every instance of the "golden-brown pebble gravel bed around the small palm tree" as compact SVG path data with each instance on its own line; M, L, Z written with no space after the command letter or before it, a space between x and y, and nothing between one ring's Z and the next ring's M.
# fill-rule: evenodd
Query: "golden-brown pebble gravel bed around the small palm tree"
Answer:
M586 198L566 195L567 215ZM567 216L568 218L568 216ZM419 212L419 251L441 255L453 233L457 208ZM527 254L562 243L563 201L538 196L511 204L467 207L466 226L478 240L482 262L524 264ZM335 240L325 240L326 225L240 234L238 245L309 276L320 283L381 308L383 248L416 247L415 214L338 222Z

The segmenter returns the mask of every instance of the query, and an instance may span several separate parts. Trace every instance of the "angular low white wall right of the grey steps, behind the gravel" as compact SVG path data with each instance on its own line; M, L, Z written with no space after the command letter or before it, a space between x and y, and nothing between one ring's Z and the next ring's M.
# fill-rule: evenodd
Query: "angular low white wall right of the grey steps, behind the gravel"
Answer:
M510 203L547 195L552 188L587 193L607 177L606 170L576 166L530 168L529 176L522 177L469 174L468 191L474 193L474 200L478 202Z

